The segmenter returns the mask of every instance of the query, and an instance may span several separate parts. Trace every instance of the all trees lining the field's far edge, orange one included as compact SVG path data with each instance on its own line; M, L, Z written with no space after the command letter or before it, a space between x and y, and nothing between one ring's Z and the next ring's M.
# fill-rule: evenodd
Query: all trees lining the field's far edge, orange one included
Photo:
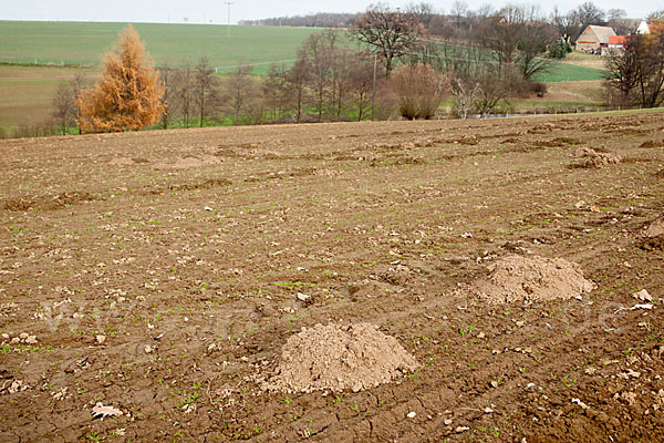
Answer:
M329 29L310 35L292 65L274 64L262 80L249 65L220 78L206 55L156 72L129 27L105 55L96 86L83 87L75 79L58 89L54 116L63 133L72 121L83 132L113 132L157 122L168 128L361 121L390 116L395 109L407 119L429 119L450 94L455 113L466 117L546 91L533 80L548 70L551 61L543 55L558 34L537 7L505 7L477 22L475 38L466 40L432 41L427 29L434 17L426 3L405 12L374 4L349 33ZM661 103L658 35L631 39L633 50L625 54L633 60L611 59L619 74L610 84L620 100ZM633 68L636 61L641 64Z

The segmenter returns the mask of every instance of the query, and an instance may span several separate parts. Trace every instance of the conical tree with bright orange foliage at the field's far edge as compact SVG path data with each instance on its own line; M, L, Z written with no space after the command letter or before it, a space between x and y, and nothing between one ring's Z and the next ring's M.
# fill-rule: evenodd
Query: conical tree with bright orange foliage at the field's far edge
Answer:
M97 84L82 91L79 125L94 133L141 130L159 120L163 93L159 72L129 24L120 34L118 47L104 54Z

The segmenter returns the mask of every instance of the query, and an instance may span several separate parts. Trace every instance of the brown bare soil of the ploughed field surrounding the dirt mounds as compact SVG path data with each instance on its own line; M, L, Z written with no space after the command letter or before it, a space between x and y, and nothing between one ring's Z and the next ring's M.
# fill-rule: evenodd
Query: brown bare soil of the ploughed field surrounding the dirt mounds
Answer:
M0 142L0 441L664 441L663 134L635 113ZM622 161L570 167L580 147ZM515 255L596 287L464 290ZM417 364L263 389L302 328L360 323Z

